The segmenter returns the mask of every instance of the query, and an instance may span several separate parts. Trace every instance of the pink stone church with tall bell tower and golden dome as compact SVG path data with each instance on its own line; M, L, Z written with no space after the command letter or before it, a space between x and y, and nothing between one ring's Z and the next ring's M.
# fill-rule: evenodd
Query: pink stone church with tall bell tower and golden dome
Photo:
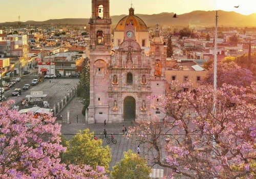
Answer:
M166 49L160 30L150 42L144 21L129 9L114 29L110 0L92 0L89 123L148 120L161 115L148 96L165 95Z

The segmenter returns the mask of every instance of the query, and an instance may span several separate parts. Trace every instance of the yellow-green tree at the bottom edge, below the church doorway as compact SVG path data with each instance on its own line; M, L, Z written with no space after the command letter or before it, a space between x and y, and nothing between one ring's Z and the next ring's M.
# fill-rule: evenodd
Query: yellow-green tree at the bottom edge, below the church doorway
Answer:
M147 166L146 159L129 150L124 152L124 159L113 167L111 175L114 179L147 179L150 172L151 167Z

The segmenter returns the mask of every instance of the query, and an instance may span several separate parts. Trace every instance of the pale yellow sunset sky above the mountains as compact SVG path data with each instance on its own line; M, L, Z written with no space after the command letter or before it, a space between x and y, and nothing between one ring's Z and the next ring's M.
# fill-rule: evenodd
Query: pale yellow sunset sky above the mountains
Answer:
M131 0L110 0L110 4L111 15L127 14ZM0 7L0 22L17 21L19 15L21 21L91 16L91 0L0 0ZM256 0L133 0L133 7L139 14L225 10L248 15L256 13Z

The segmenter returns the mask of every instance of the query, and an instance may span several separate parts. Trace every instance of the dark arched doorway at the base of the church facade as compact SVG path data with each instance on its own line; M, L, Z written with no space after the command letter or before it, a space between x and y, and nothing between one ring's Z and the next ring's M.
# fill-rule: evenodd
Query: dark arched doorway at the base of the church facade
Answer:
M136 118L136 101L133 97L127 96L123 100L123 119L125 121L135 120Z

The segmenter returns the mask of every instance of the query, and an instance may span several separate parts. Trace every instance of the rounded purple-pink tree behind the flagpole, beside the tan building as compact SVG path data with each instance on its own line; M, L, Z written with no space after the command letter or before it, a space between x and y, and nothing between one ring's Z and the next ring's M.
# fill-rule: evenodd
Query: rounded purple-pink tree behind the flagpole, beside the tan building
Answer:
M255 81L255 77L251 71L241 68L234 62L219 62L217 64L217 86L221 87L223 83L231 84L233 86L250 86L251 82ZM203 83L214 83L214 67L208 70L206 77L203 79Z

